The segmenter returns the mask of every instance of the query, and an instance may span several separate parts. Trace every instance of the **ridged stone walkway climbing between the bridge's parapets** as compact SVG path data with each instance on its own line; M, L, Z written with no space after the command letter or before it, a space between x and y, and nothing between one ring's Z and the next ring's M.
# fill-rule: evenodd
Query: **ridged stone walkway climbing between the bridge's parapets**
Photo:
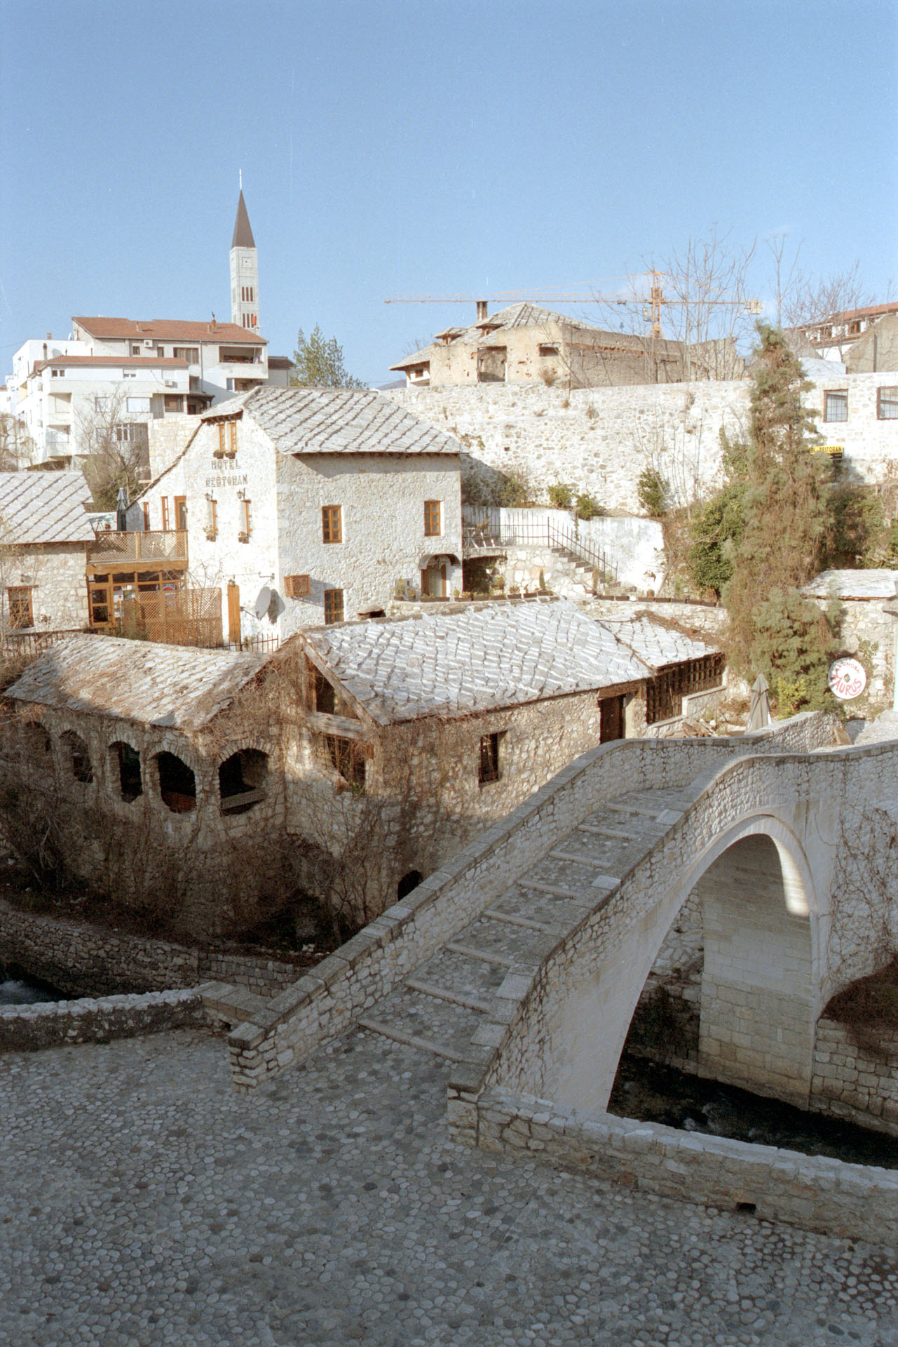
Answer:
M703 773L683 788L634 791L603 804L525 880L512 884L416 967L359 1025L446 1061L482 1061L486 1048L495 1045L482 1036L486 1016L506 978L524 975L529 983L564 933L680 820L712 775Z

